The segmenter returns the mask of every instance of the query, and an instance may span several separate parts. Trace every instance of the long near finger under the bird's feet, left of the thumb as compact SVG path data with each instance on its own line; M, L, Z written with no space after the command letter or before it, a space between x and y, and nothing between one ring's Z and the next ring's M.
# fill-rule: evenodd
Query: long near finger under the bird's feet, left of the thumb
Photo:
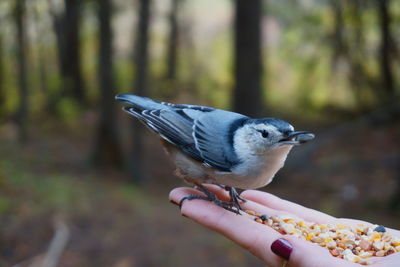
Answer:
M199 194L191 188L177 188L171 191L170 199L176 203L188 194ZM181 212L192 220L214 230L261 258L270 266L282 266L283 260L271 250L272 241L280 234L265 225L254 222L248 216L227 211L209 201L184 201Z

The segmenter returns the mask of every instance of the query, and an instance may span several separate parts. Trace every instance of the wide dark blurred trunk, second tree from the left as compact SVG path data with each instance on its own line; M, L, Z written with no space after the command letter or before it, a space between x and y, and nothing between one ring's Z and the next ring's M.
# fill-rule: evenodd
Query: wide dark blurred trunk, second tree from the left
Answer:
M55 96L53 101L58 102L61 97L69 96L78 103L84 104L86 98L79 38L82 1L64 0L65 8L61 13L56 11L52 0L49 0L49 3L57 39L60 73L63 79L60 95Z

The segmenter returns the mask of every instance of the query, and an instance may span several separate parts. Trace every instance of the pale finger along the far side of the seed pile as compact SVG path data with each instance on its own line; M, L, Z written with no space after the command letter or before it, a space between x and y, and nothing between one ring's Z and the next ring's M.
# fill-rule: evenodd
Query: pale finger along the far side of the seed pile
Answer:
M333 223L336 218L325 213L303 207L299 204L281 199L272 194L261 192L258 190L246 190L241 194L245 199L252 200L274 210L285 211L296 215L306 221L317 223Z

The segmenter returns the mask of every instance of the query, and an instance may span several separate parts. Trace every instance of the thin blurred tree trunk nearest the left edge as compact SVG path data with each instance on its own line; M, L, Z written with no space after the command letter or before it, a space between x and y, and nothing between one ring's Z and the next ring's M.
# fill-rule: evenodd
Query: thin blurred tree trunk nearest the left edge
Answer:
M17 111L18 139L21 144L28 139L28 81L26 66L27 35L25 26L25 0L16 0L14 6L14 19L17 37L17 63L19 104Z

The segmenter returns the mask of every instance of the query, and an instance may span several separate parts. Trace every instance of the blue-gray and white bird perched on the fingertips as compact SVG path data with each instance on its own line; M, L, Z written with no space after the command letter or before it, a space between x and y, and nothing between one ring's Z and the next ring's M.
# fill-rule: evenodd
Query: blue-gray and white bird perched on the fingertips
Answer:
M293 146L314 139L276 118L251 118L232 111L190 104L173 104L134 94L119 94L123 110L155 132L176 165L175 174L195 185L204 199L240 213L241 190L269 184L284 166ZM216 184L229 192L222 201L203 184Z

